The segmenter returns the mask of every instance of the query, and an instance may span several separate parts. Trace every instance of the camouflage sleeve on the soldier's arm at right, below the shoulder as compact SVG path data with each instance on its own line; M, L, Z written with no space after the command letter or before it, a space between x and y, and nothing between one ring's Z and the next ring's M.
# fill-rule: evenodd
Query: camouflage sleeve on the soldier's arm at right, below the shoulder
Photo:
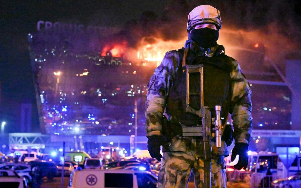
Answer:
M252 131L251 88L236 60L233 60L231 117L234 126L235 143L250 144Z

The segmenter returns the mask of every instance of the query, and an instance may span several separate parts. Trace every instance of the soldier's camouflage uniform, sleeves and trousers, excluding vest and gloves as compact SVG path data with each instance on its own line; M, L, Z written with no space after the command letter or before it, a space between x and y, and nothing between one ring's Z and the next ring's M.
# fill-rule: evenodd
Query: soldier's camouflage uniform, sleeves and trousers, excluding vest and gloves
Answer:
M219 45L209 50L208 57L212 57ZM185 44L186 47L186 44ZM229 57L230 58L230 57ZM249 145L251 137L251 88L242 74L240 66L235 59L231 59L231 117L234 126L235 143ZM179 51L167 52L161 65L155 69L148 84L146 99L146 136L162 135L163 113L166 107L170 87L175 78L175 72L179 68L181 60ZM183 112L185 113L185 112ZM168 117L170 119L171 117ZM159 187L186 187L193 171L195 186L203 187L204 162L203 156L196 156L196 150L203 151L203 145L196 148L196 140L191 137L177 135L166 146L163 146L163 160L159 172ZM212 187L226 187L226 175L224 171L224 158L215 160L216 156L228 156L227 145L222 141L222 147L212 149Z

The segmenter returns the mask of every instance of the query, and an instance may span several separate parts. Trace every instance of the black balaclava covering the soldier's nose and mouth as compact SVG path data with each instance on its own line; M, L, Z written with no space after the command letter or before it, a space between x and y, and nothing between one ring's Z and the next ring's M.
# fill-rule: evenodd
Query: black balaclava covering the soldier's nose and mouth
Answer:
M208 49L217 45L219 31L208 27L193 29L188 32L188 39L193 40L199 47Z

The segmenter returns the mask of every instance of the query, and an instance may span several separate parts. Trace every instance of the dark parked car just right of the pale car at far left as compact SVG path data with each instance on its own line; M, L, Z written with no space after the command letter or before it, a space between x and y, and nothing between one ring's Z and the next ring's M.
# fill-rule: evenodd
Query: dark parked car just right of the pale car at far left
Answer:
M49 161L30 161L28 164L33 167L37 166L40 169L41 176L47 176L48 179L52 180L55 176L57 176L57 167L54 162Z

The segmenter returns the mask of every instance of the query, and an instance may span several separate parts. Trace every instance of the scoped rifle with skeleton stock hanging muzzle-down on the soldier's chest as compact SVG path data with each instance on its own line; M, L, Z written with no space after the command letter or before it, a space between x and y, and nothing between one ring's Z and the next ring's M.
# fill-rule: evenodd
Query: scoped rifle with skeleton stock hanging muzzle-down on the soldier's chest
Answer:
M200 142L204 146L204 183L206 188L211 188L211 161L212 161L212 140L215 138L215 146L221 147L222 123L220 118L221 106L215 106L215 117L212 118L212 113L208 106L204 106L203 95L203 64L186 65L185 57L187 50L184 51L182 67L186 67L186 112L198 115L202 121L198 121L196 126L183 126L183 136L197 137L197 157ZM197 78L197 79L196 79ZM190 80L200 80L200 86L193 88ZM200 104L195 104L195 100L191 98L199 97ZM199 110L195 110L199 109ZM214 127L214 128L212 128Z

